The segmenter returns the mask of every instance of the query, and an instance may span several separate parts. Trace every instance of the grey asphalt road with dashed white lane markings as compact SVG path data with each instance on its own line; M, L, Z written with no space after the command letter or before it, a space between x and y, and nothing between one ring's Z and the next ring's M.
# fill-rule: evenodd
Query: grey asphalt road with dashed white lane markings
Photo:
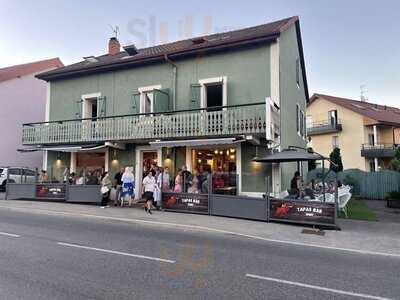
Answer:
M394 257L0 209L0 299L400 299L399 274Z

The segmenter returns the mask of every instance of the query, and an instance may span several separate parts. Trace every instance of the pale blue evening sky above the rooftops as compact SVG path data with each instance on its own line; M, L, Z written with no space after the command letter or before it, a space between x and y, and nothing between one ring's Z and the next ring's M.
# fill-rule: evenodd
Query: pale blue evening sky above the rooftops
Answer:
M398 0L0 0L0 68L105 54L115 26L122 45L147 47L294 15L310 95L360 99L362 89L371 102L400 107Z

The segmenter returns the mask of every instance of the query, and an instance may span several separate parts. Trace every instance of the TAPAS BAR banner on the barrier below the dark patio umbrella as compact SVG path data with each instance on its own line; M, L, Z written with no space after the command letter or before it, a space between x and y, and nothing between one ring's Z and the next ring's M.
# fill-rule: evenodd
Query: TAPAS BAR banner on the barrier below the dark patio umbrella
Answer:
M301 223L335 224L335 204L270 199L269 217Z

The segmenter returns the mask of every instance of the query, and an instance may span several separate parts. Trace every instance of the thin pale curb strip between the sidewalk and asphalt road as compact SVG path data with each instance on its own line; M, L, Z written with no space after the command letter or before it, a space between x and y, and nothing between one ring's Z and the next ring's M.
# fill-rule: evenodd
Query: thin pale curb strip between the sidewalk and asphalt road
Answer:
M191 230L200 230L200 231L216 232L216 233L221 233L221 234L229 234L229 235L233 235L233 236L239 236L239 237L260 240L260 241L265 241L265 242L272 242L272 243L277 243L277 244L295 245L295 246L311 247L311 248L318 248L318 249L352 252L352 253L357 253L357 254L367 254L367 255L377 255L377 256L400 258L400 254L396 254L396 253L369 251L369 250L352 249L352 248L341 248L341 247L333 247L333 246L316 245L316 244L312 244L312 243L277 240L277 239L264 238L261 236L249 235L249 234L244 234L244 233L240 233L240 232L232 232L232 231L228 231L228 230L216 229L216 228L199 226L199 225L186 225L186 224L150 221L150 220L142 220L142 219L107 217L107 216L98 216L98 215L85 214L85 213L60 212L60 211L39 209L39 208L27 209L27 208L21 208L21 207L8 207L8 206L1 206L1 205L0 205L0 208L16 210L16 211L25 211L25 212L27 211L30 213L37 212L37 213L42 213L42 214L47 213L50 215L88 217L88 218L95 218L95 219L101 219L101 220L111 220L111 221L120 221L120 222L143 223L143 224L160 225L160 226L168 226L168 227L178 227L178 228L186 228L186 229L191 229Z

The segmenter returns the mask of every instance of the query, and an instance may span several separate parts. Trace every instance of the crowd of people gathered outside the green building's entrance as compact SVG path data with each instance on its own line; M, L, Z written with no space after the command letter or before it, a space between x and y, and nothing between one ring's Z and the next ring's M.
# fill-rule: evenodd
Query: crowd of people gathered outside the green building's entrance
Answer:
M145 168L146 169L146 168ZM121 168L114 178L102 170L81 171L79 174L65 168L63 183L71 185L100 185L102 201L101 207L109 207L109 202L115 206L144 201L144 208L149 214L161 206L161 191L175 193L207 194L210 188L220 188L227 184L229 179L221 170L217 170L210 180L210 172L203 166L190 172L184 165L176 170L176 176L170 174L168 167L160 167L151 163L142 174L141 190L136 190L136 180L133 167ZM41 171L40 183L50 182L46 171Z

